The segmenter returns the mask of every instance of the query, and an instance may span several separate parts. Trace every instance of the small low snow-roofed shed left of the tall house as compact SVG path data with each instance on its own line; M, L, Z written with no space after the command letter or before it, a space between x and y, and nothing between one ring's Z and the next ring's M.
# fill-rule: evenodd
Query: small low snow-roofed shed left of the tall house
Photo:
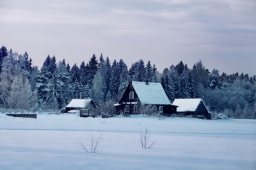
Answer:
M92 99L72 99L69 104L65 108L65 113L69 112L70 110L81 110L81 109L88 109L96 108L96 104Z

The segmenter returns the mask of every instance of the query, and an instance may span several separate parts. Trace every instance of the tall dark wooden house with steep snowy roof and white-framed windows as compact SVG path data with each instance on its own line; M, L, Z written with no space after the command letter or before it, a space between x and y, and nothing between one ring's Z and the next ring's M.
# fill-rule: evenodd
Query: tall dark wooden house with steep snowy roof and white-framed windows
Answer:
M156 105L160 114L176 114L177 106L172 105L161 83L132 81L129 83L119 103L116 103L116 114L139 114L140 105Z

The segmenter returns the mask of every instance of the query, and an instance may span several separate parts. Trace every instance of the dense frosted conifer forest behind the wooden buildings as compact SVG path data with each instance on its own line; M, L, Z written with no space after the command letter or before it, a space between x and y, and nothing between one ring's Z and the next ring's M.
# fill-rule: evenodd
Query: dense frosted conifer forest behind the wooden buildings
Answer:
M170 101L200 97L212 113L230 118L256 118L256 77L209 71L199 60L189 69L183 61L159 73L150 61L130 68L121 59L110 62L102 54L73 66L46 56L42 67L32 65L28 53L0 49L0 107L31 111L60 110L73 98L92 98L98 105L119 100L129 81L160 82Z

